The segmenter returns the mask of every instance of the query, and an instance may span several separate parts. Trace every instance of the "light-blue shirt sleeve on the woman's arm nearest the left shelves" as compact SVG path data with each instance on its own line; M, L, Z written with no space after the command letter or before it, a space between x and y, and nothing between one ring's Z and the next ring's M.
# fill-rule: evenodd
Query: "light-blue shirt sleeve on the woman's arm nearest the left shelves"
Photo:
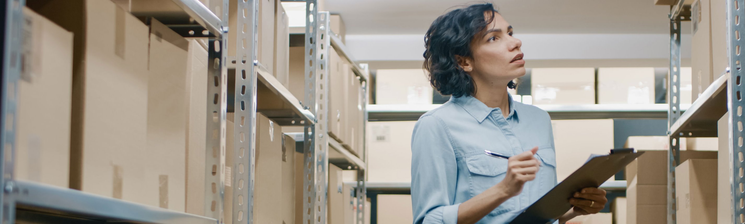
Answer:
M425 115L411 138L411 199L415 224L456 224L457 163L444 122Z

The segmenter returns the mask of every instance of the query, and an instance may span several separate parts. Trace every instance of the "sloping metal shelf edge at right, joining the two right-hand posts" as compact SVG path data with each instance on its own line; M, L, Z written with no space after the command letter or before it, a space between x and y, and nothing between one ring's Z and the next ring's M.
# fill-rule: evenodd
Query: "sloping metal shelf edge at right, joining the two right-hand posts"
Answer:
M695 115L702 110L703 105L706 104L708 100L714 99L714 96L722 94L723 91L726 93L725 88L727 86L727 79L729 79L729 76L726 75L727 73L729 73L729 68L724 71L722 76L714 80L714 82L711 82L711 85L701 93L701 96L699 96L698 99L696 99L696 101L691 104L691 106L685 110L685 112L683 112L672 125L670 125L670 130L668 131L671 134L679 133L682 127L685 127L688 122L695 119Z

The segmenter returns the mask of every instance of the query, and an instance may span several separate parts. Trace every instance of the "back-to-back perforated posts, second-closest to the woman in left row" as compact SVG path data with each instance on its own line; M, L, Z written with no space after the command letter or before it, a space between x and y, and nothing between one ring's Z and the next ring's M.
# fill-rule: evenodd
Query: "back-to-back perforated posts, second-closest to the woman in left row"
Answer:
M316 117L314 125L305 126L303 159L303 223L326 223L326 166L329 165L329 139L326 135L329 82L328 54L329 13L318 13L316 1L306 1L305 19L305 105Z

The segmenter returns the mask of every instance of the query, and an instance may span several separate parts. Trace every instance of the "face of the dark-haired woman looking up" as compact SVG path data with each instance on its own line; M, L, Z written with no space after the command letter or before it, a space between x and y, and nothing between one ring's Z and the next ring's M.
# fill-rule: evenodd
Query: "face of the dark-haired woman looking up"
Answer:
M484 16L489 18L491 14L487 12ZM499 80L506 84L525 75L521 46L522 42L513 37L513 27L499 13L494 13L494 20L471 42L472 58L465 59L466 65L461 65L475 79L486 79L492 83Z

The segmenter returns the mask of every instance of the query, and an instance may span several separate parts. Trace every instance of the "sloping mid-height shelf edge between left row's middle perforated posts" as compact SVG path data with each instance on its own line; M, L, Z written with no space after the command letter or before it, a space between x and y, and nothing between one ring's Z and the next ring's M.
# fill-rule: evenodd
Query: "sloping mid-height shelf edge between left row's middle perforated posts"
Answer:
M279 80L276 79L276 77L272 76L269 71L264 68L263 65L256 62L254 63L256 67L256 71L259 73L258 79L259 82L263 82L264 85L267 85L267 87L272 90L272 92L276 93L280 96L280 98L285 100L285 103L288 105L292 105L292 111L297 113L297 115L305 120L308 125L313 125L315 123L315 116L311 111L306 110L305 108L302 108L302 105L300 105L300 101L292 95L290 90L285 88L285 85L282 85L282 83L279 82Z

